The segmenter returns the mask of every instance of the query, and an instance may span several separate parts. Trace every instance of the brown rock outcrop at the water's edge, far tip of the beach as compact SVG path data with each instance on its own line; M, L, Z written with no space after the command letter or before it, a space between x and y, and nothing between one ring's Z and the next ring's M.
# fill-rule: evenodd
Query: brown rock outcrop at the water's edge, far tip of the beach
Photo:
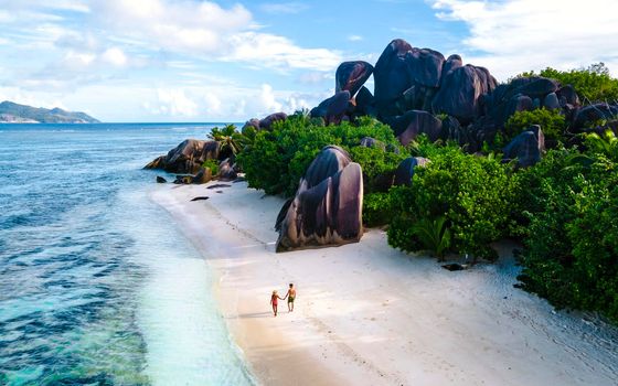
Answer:
M196 173L204 161L216 160L219 142L185 139L166 156L148 163L145 169L162 169L169 173Z

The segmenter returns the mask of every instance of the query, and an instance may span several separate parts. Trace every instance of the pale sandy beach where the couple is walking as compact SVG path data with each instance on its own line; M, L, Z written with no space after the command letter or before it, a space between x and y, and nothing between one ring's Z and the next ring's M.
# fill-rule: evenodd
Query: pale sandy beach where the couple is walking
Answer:
M221 312L263 384L618 384L617 330L513 288L512 259L450 272L373 229L275 254L283 200L230 185L158 185L152 197L213 268ZM288 282L296 310L280 301L273 318L270 292Z

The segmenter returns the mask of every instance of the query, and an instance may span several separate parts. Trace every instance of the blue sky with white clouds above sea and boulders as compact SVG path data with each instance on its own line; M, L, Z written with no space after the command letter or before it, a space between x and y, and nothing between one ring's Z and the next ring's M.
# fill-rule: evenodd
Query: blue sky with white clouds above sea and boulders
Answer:
M245 121L311 108L393 39L499 79L604 62L615 0L0 0L0 100L103 121ZM367 87L373 89L370 79Z

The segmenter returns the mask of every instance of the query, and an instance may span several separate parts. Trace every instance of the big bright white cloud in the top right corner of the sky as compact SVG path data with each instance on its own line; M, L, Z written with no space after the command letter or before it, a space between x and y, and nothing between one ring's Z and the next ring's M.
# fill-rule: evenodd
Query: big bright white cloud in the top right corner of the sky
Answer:
M438 0L437 17L462 21L467 61L500 79L546 66L573 68L605 62L618 74L618 23L614 0Z

